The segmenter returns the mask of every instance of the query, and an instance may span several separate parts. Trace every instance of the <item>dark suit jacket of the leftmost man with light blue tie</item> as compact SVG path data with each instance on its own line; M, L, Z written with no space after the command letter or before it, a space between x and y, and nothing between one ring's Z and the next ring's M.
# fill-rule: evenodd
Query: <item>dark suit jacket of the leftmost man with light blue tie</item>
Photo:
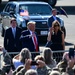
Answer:
M16 35L15 38L12 33L12 28L6 30L4 36L4 47L8 52L19 52L21 51L21 28L16 27Z

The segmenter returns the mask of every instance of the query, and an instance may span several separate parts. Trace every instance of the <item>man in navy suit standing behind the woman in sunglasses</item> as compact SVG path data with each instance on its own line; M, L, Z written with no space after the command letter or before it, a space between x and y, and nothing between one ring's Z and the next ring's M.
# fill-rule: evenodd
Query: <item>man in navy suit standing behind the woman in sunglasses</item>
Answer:
M52 16L48 19L48 27L52 27L52 22L53 21L59 21L59 23L61 24L61 20L60 18L57 16L57 10L56 9L52 9Z

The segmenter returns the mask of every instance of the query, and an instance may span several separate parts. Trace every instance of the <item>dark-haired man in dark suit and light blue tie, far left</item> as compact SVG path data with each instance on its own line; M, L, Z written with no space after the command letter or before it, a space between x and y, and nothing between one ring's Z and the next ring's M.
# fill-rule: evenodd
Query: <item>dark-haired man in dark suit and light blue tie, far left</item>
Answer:
M21 28L17 27L16 19L12 18L10 21L11 27L5 31L4 47L8 52L21 51Z

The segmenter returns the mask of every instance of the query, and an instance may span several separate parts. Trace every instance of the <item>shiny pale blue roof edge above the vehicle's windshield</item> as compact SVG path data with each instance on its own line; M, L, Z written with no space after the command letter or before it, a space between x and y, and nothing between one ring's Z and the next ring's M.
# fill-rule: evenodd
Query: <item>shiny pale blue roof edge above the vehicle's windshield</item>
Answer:
M14 4L48 4L46 2L42 2L42 1L11 1L8 3L14 3Z

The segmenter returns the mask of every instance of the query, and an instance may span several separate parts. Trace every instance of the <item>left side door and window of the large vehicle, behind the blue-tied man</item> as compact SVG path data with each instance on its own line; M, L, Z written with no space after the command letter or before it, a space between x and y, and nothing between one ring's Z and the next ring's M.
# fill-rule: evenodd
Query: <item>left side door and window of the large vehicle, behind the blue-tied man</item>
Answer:
M8 4L3 13L2 13L2 25L4 30L8 29L10 27L10 20L12 15L10 12L13 11L15 13L15 5L14 4Z

